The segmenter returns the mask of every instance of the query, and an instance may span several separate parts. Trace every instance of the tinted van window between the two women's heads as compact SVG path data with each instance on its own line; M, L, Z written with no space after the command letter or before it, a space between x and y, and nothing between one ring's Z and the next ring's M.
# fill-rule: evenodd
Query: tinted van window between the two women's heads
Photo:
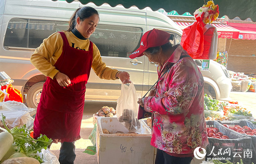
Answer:
M90 40L99 48L101 56L126 58L139 48L142 35L140 27L99 24Z

